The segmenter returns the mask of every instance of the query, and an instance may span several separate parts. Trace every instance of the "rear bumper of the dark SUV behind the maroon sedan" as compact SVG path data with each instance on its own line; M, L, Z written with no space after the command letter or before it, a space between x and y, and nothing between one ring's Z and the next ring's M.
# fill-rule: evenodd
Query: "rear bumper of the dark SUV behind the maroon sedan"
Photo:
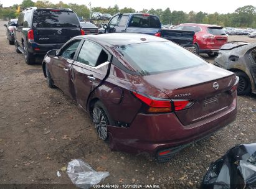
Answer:
M29 52L34 55L45 55L49 50L59 49L64 44L37 44L29 43Z

